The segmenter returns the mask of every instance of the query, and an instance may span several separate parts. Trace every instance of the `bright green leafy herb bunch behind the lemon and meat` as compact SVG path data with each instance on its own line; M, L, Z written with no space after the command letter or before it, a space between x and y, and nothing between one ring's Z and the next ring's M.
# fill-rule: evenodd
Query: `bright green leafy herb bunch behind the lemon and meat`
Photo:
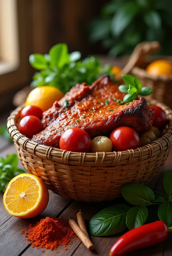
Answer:
M30 65L40 70L33 76L31 86L51 85L60 89L64 94L72 86L86 82L88 85L103 74L111 77L111 66L105 66L99 58L90 56L81 59L81 52L68 52L66 44L56 44L48 54L35 53L29 56Z

